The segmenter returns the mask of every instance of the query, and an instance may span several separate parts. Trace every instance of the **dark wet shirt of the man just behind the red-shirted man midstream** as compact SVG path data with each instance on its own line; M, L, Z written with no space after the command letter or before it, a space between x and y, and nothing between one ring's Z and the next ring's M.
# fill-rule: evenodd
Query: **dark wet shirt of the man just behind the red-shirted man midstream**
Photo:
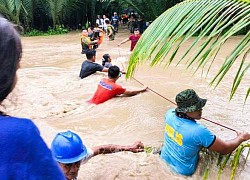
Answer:
M81 67L81 71L80 71L80 78L85 78L91 74L96 73L96 71L102 71L103 70L103 66L94 62L90 62L90 61L84 61L82 63L82 67Z

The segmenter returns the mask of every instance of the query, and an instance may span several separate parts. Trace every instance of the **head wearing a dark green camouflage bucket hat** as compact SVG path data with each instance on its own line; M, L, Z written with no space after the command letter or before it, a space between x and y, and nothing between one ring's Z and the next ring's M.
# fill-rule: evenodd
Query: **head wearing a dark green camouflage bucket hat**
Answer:
M192 119L201 119L202 108L207 100L200 98L193 89L186 89L176 95L177 113L184 113Z

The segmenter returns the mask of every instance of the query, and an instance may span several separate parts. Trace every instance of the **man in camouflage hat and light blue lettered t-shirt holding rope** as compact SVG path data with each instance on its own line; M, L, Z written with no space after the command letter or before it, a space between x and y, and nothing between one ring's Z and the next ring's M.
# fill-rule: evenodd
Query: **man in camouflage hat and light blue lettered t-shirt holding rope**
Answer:
M175 101L177 108L168 110L165 115L161 158L178 174L190 176L195 172L202 147L228 154L250 139L250 134L238 132L236 138L223 141L197 123L207 100L200 98L193 89L180 92Z

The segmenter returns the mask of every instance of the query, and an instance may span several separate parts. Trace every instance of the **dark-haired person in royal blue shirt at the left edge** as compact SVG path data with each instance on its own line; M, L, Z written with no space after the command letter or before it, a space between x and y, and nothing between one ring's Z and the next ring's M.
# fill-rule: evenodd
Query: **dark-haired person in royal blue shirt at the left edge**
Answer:
M0 104L14 89L22 45L13 25L0 16ZM3 108L2 108L3 109ZM0 111L1 179L64 180L60 167L40 136L36 125L26 118Z

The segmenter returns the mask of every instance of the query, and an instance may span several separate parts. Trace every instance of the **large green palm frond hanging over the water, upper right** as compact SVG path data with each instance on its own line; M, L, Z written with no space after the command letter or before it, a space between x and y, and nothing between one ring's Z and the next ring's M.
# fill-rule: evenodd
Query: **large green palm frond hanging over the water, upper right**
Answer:
M231 99L249 70L250 62L246 60L250 49L249 27L249 0L190 0L179 3L165 11L143 33L131 54L127 78L133 76L138 63L145 60L149 60L151 66L162 63L170 65L176 60L180 47L190 38L193 42L178 59L177 65L182 62L186 63L187 68L196 65L195 72L207 67L205 70L208 73L226 41L248 28L246 35L225 57L210 83L217 87L236 59L244 55L232 82ZM188 58L190 54L192 57ZM249 92L246 92L246 99L248 96Z

